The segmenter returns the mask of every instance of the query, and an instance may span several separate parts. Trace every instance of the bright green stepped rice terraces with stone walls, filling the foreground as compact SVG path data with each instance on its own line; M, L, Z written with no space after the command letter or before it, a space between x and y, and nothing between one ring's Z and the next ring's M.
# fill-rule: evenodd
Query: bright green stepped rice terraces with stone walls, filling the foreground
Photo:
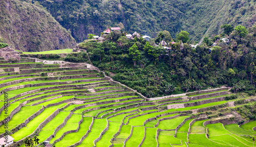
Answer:
M56 147L253 145L255 121L223 125L233 114L204 113L234 106L227 87L147 99L88 64L23 62L0 64L0 98L9 101L7 113L0 103L0 137L7 120L14 144L37 135Z

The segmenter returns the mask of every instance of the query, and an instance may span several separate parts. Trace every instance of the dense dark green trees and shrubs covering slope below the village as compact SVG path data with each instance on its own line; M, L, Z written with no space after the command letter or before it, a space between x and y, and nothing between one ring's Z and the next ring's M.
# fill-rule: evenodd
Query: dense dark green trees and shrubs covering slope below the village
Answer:
M113 32L102 43L86 40L79 47L87 49L93 65L107 74L113 72L115 80L147 97L224 84L234 86L234 92L255 93L255 26L248 31L244 26L236 26L230 32L229 44L221 40L225 34L206 38L208 43L220 39L212 48L204 42L194 49L189 41L184 44L180 41L170 43L172 49L167 51L155 46L154 41L159 37L160 40L168 37L166 31L165 35L162 33L148 43L142 38L127 40L123 34Z

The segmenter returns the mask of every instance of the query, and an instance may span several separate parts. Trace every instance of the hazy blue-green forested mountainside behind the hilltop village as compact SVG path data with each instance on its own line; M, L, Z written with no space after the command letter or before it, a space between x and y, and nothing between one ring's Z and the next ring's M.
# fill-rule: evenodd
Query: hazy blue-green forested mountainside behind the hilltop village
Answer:
M255 2L251 0L38 2L71 31L77 42L86 39L90 33L100 35L110 26L121 26L129 33L137 31L151 37L163 30L170 32L173 38L178 32L187 31L190 38L199 41L205 34L219 34L223 24L249 27L256 19Z

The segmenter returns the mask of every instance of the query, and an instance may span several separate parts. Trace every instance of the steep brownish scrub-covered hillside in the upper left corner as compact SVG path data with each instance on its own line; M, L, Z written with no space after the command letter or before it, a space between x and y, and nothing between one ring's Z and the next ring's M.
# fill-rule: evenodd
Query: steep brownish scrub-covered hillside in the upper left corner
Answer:
M70 33L38 3L0 1L0 19L0 40L15 49L42 51L75 45Z

